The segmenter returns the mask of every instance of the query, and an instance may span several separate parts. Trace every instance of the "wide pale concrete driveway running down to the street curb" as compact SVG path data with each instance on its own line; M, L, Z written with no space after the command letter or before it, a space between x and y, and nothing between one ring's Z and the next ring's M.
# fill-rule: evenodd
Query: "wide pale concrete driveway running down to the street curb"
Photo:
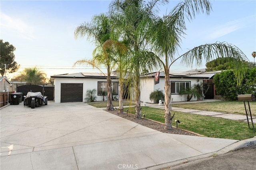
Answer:
M256 144L165 134L82 102L0 112L2 170L159 169Z

